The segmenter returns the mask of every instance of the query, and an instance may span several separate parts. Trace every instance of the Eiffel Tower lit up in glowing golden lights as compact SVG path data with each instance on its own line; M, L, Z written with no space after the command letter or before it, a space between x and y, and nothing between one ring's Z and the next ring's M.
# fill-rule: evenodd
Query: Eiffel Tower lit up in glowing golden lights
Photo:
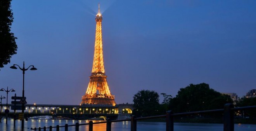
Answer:
M102 14L99 11L96 15L96 33L95 33L95 47L92 64L92 75L88 84L86 93L82 96L80 105L112 105L115 106L115 96L111 95L109 86L107 84L107 76L105 75L102 49Z

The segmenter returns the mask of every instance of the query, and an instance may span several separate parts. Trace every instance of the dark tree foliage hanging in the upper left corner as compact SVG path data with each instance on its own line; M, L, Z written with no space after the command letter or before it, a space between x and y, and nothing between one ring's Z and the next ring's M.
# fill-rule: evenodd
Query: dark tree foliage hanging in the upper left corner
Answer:
M0 1L0 68L10 63L12 55L16 54L16 37L10 32L13 13L10 9L11 0Z

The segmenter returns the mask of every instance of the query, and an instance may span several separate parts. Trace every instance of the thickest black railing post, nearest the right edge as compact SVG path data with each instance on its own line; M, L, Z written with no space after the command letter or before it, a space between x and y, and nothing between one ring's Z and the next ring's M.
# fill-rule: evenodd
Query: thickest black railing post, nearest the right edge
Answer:
M234 131L234 111L232 111L231 108L234 108L233 104L225 104L224 105L223 131Z

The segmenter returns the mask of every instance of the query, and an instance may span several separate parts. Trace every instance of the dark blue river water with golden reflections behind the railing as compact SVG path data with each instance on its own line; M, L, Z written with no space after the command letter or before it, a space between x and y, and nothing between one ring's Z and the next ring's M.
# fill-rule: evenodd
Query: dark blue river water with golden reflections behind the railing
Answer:
M5 119L0 123L0 131L20 131L21 121L16 121L16 128L13 127L14 120L8 119L8 124L5 124ZM74 120L38 120L29 119L24 122L25 131L32 131L30 128L49 127L49 126L64 126L66 123L71 125L77 121ZM89 121L81 120L78 123L88 123ZM94 121L95 122L95 121ZM53 129L55 131L56 129ZM75 128L69 127L69 131L74 131ZM80 131L88 131L88 126L80 126ZM202 124L202 123L174 123L175 131L223 131L223 124ZM47 130L49 131L49 129ZM64 128L60 128L64 131ZM93 131L106 131L106 124L94 124ZM111 131L130 131L130 121L112 123ZM164 122L137 122L137 131L165 131ZM256 131L254 124L235 124L235 131Z

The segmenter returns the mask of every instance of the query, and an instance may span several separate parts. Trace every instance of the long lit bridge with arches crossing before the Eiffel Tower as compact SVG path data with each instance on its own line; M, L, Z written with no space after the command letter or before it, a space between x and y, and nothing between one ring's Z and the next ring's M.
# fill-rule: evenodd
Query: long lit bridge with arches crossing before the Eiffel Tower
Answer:
M8 117L18 118L17 113L21 110L12 110L14 104L7 104L10 113ZM2 112L6 109L6 105L2 106ZM71 119L90 119L90 118L110 118L117 119L118 114L131 114L133 110L132 104L110 105L54 105L54 104L25 104L24 118L33 116L54 116L66 117ZM2 114L2 116L5 116Z

